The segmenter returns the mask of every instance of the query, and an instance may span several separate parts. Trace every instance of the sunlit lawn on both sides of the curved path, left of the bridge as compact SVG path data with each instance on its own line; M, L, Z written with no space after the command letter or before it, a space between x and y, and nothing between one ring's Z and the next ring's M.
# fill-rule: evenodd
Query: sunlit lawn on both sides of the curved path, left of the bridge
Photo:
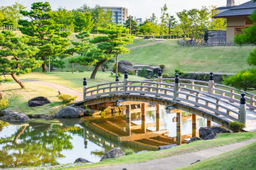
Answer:
M48 81L55 84L60 84L67 86L70 89L75 89L76 91L82 92L82 79L83 77L90 77L91 72L78 73L75 72L52 72L48 73L30 73L19 76L18 78L23 81L26 89L21 89L21 87L15 82L7 82L1 85L1 93L3 99L9 101L8 108L12 108L14 111L23 112L27 114L53 114L57 113L62 105L58 100L58 91L53 91L49 87L40 86L38 84L33 84L32 82L26 82L26 80L38 80L38 81ZM11 78L11 77L7 77ZM120 77L120 81L124 79L124 75ZM130 80L142 80L143 77L129 76ZM115 77L110 77L109 72L98 72L96 79L87 79L88 86L94 86L96 84L103 84L107 82L115 81ZM49 98L52 102L49 105L30 108L28 107L28 100L36 96L45 96Z

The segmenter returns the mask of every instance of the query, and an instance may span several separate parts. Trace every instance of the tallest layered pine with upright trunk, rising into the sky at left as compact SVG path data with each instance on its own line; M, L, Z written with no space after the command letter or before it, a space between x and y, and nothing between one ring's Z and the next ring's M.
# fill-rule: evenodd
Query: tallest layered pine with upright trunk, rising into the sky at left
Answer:
M36 2L31 6L31 11L21 11L29 20L20 20L18 24L21 33L33 37L31 45L38 47L36 57L43 61L43 72L47 72L47 63L51 57L57 57L70 45L69 32L60 32L60 25L55 24L54 17L48 2ZM50 64L49 64L50 66ZM50 68L49 68L50 69Z

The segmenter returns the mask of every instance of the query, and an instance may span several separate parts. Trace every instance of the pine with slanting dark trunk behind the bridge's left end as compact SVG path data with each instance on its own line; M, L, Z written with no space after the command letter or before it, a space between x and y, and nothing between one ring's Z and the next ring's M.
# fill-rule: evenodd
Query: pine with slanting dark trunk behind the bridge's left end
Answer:
M121 25L108 24L106 28L99 28L97 31L104 35L90 40L96 46L87 50L84 55L76 60L81 65L95 65L90 79L95 79L100 66L114 57L114 55L116 55L116 62L118 62L119 54L128 53L129 50L123 45L132 43L134 38L132 35L129 35L129 30Z

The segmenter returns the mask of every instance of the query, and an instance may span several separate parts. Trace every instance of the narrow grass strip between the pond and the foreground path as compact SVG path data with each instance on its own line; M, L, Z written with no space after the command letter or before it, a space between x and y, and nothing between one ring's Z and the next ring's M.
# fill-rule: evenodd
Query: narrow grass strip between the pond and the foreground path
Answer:
M189 145L181 145L178 147L173 147L171 149L166 149L156 152L146 152L142 154L131 154L124 157L119 157L117 159L107 159L104 162L99 162L95 164L86 164L82 166L69 167L66 169L82 169L91 168L94 166L107 166L114 164L132 164L139 162L146 162L152 159L159 159L162 157L170 157L176 154L183 154L187 152L196 152L202 149L219 147L223 145L229 145L235 142L240 142L242 140L248 140L252 137L256 137L256 132L241 132L241 133L230 133L230 134L220 134L214 140L201 140L192 142ZM221 160L221 159L220 159Z

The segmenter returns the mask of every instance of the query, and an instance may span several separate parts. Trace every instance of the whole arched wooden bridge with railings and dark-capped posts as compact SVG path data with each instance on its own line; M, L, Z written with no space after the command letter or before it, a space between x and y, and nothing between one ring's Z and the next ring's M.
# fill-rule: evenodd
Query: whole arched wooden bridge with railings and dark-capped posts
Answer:
M216 84L213 73L209 81L192 79L158 79L129 81L127 72L124 81L116 81L87 87L84 79L83 101L78 106L125 101L147 102L178 108L199 115L225 127L233 121L244 123L250 130L256 130L255 94ZM125 105L125 104L124 104Z

